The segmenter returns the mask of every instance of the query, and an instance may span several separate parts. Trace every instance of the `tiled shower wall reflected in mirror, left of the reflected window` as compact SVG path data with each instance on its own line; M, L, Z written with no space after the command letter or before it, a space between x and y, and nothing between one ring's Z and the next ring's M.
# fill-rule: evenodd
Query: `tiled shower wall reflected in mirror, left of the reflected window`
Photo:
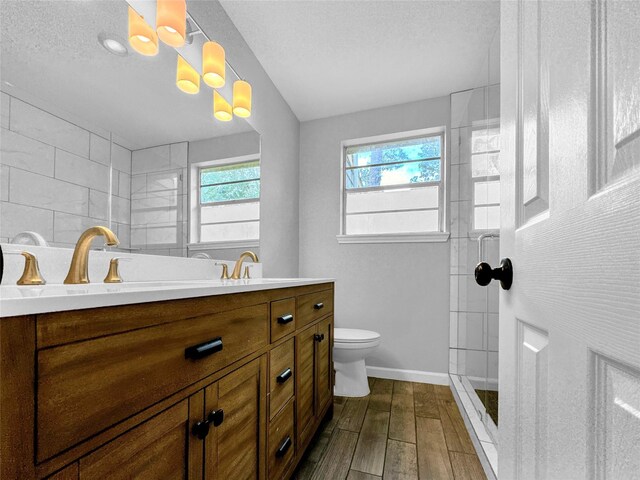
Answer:
M187 142L135 150L131 246L136 253L187 254Z

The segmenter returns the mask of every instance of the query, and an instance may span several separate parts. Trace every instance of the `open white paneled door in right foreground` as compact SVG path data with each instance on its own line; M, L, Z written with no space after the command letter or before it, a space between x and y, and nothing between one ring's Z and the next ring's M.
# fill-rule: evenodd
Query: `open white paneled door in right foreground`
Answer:
M499 478L638 479L640 1L501 29Z

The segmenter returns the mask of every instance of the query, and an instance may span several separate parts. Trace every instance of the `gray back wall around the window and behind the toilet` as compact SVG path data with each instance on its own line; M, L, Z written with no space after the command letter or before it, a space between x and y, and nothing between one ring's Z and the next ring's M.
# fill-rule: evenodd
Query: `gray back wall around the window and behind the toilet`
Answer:
M449 118L446 96L300 127L300 276L336 279L337 327L382 334L367 365L448 372L449 242L338 244L340 142Z

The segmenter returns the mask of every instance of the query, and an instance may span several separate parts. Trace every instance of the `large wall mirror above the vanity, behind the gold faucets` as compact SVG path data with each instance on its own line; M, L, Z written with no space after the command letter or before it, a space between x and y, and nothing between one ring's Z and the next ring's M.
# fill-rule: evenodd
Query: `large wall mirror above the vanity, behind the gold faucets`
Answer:
M177 88L179 54L201 67L197 19L185 46L143 56L127 41L129 4L155 24L149 0L0 4L0 241L73 248L105 225L132 253L255 249L259 134L214 118L204 81L197 94ZM230 102L237 78L228 65L219 92Z

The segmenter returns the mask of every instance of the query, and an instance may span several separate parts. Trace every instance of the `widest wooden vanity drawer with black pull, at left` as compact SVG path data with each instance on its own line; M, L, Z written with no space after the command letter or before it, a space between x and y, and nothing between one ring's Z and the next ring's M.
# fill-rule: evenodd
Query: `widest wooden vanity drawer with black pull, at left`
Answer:
M268 336L264 303L40 350L38 460L251 354Z

